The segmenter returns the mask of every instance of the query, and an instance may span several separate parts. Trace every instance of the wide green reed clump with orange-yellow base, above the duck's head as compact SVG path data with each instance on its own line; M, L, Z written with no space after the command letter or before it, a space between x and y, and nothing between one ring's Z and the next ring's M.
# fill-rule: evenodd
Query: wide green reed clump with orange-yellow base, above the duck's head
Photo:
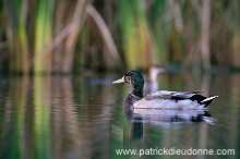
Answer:
M118 1L119 27L128 68L147 69L153 61L153 40L142 1Z

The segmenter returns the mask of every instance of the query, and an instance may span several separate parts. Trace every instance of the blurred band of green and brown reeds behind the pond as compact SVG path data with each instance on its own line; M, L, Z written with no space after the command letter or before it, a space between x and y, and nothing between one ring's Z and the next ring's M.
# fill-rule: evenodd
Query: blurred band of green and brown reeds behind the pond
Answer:
M3 0L0 72L240 68L239 0Z

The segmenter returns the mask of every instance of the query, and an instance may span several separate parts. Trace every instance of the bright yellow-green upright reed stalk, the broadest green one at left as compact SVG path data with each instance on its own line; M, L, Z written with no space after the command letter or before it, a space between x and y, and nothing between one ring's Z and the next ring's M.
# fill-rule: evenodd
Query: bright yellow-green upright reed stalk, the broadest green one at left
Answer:
M52 40L52 14L53 1L37 0L35 13L35 49L34 72L50 71L51 54L43 57L45 49L49 47Z

